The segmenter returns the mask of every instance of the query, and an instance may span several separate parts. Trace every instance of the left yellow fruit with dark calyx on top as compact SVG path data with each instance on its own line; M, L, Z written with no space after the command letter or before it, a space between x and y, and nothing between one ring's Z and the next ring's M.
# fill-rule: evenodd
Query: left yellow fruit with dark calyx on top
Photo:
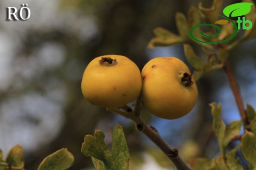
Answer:
M92 104L118 108L136 99L141 91L140 70L121 55L104 55L92 60L83 74L83 96Z

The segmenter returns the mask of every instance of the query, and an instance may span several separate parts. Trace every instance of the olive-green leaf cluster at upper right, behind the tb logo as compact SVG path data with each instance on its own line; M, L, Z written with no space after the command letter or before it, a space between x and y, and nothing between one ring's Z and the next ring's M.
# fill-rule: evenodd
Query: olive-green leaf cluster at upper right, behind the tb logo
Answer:
M149 42L148 47L154 48L158 46L172 46L176 44L183 44L185 56L189 64L194 69L193 76L195 80L198 80L205 73L223 68L224 62L229 56L229 51L231 49L234 49L242 42L256 37L256 6L255 4L252 5L253 0L243 0L246 5L240 8L237 7L237 4L227 6L223 11L224 15L244 15L247 20L250 20L252 22L252 28L243 30L243 34L241 37L235 36L235 38L232 40L216 45L217 42L230 38L235 31L233 25L234 23L232 24L227 20L225 20L227 22L222 22L222 20L218 20L218 17L220 16L219 14L222 2L223 0L214 0L210 8L204 8L202 3L199 3L198 7L192 6L188 12L188 18L186 18L183 13L177 12L175 19L176 27L179 34L177 35L167 29L157 27L154 29L155 37L152 38L152 40ZM192 28L196 25L205 25L201 24L201 21L209 23L207 29L208 32L203 33L200 29L200 26L196 27L192 31L192 35L198 40L195 41L192 38L190 30L192 30ZM213 24L222 24L221 32L216 33L215 27L217 26L213 27ZM209 43L201 43L199 41L207 41ZM192 47L198 45L199 47L201 47L201 51L207 57L206 59L199 57L194 52Z

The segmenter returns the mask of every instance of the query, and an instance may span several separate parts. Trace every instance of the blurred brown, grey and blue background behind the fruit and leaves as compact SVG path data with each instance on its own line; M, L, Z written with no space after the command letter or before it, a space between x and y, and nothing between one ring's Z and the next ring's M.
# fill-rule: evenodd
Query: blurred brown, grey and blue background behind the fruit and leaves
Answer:
M23 146L25 169L35 170L49 154L67 148L75 157L70 170L93 170L81 153L86 134L102 130L111 146L116 123L124 127L133 170L169 170L169 160L134 124L90 104L80 89L82 74L95 57L128 56L140 69L148 60L176 56L186 62L182 45L147 48L153 29L177 33L175 13L213 0L1 0L0 1L0 148L6 155ZM224 1L223 8L239 0ZM6 7L28 4L26 21L6 21ZM245 104L256 107L256 40L231 51L230 63ZM199 98L192 112L178 120L162 120L146 109L142 116L181 156L212 158L219 149L211 129L208 103L223 105L227 123L239 120L234 97L222 70L198 82Z

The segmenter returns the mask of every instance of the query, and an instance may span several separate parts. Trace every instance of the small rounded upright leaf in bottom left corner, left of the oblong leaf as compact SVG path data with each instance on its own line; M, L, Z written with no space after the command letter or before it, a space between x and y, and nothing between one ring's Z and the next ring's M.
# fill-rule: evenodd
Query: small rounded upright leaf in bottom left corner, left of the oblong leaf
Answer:
M23 168L24 167L24 158L23 158L23 149L20 145L13 146L7 156L5 162L12 167Z

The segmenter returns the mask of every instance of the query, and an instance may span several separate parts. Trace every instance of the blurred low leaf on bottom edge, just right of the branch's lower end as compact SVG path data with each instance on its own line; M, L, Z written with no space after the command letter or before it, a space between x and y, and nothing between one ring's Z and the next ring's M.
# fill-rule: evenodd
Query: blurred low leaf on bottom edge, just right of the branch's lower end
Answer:
M214 160L206 158L193 158L190 160L189 165L192 170L216 170Z

